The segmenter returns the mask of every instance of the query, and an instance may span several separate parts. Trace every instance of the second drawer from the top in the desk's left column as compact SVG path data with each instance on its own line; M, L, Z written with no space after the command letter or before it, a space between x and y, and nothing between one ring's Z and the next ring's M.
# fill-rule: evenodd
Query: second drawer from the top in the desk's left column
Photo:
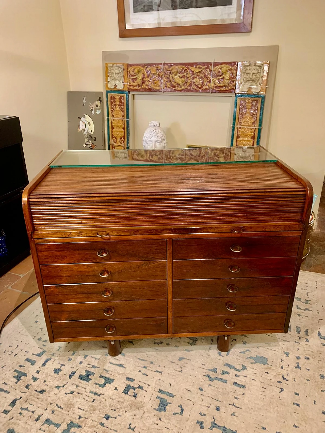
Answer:
M165 261L41 265L41 271L46 285L166 280Z

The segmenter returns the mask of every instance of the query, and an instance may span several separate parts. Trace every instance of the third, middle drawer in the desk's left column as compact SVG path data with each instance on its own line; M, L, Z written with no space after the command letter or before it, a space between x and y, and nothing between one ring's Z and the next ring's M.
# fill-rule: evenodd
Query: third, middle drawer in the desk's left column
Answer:
M76 302L136 301L166 299L165 281L123 281L119 283L65 284L45 286L48 304Z

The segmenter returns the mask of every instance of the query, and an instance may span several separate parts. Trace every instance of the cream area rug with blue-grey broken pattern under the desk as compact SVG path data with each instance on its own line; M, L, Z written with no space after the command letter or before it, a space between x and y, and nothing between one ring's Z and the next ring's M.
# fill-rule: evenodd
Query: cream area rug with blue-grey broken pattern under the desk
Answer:
M39 299L0 344L1 433L325 432L325 275L301 272L287 334L49 343Z

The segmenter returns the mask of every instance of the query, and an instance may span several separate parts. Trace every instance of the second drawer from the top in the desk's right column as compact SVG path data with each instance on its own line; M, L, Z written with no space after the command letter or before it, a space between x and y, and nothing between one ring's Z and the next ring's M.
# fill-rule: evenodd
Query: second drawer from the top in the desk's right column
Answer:
M276 259L174 260L175 280L292 276L296 257Z

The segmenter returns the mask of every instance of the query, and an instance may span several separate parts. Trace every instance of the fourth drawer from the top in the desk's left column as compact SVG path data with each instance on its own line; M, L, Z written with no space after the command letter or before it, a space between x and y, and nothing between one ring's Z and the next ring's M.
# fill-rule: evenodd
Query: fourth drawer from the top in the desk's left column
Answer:
M52 322L167 317L167 301L118 301L49 304Z

